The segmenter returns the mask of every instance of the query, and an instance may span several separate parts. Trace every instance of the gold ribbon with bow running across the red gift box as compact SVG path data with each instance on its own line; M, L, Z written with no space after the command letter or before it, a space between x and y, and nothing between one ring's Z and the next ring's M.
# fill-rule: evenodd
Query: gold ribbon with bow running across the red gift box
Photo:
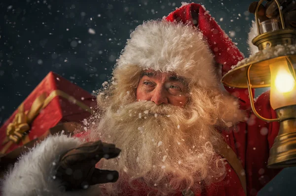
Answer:
M5 154L13 143L19 143L20 140L23 140L23 144L30 141L28 135L23 137L24 134L30 131L30 124L34 121L39 112L44 109L56 96L66 98L73 104L91 113L91 109L87 105L61 90L54 90L47 97L44 92L34 100L29 111L24 111L24 103L18 107L18 111L14 116L13 121L9 123L6 128L7 137L2 142L2 145L5 144L5 146L1 149L1 153Z

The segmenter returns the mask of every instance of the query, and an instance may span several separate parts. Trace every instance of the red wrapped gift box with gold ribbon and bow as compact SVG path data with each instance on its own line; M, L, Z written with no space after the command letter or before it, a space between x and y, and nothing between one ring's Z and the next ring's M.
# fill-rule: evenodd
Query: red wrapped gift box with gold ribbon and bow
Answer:
M50 128L63 122L80 122L95 106L90 93L50 72L0 128L0 152L44 138Z

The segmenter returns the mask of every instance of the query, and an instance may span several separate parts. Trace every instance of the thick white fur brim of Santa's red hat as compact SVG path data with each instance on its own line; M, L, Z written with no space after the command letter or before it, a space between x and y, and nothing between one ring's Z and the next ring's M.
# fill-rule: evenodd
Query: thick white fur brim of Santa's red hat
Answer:
M138 26L117 60L117 68L129 65L173 71L202 86L217 84L214 57L203 34L183 23L162 20Z

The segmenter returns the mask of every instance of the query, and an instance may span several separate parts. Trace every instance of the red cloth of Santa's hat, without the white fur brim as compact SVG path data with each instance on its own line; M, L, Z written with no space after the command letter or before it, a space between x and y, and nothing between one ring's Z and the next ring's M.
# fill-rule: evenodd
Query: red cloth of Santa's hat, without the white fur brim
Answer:
M222 64L222 75L224 75L231 69L231 66L236 65L244 56L202 5L197 3L185 5L170 13L166 20L170 22L182 21L184 24L194 26L191 16L192 11L199 13L198 28L208 42L216 62ZM239 98L242 110L250 108L248 89L230 88L227 86L225 86L225 89L233 96Z

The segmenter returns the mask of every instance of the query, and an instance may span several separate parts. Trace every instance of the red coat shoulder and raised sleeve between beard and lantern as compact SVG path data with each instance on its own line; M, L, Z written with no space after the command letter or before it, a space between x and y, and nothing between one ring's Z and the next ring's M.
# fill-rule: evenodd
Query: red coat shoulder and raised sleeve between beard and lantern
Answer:
M269 102L269 91L259 96L256 110L266 118L276 118ZM279 131L279 123L267 123L249 111L249 120L241 122L231 131L224 131L228 145L236 152L246 171L249 196L256 196L281 169L267 168L269 150Z

